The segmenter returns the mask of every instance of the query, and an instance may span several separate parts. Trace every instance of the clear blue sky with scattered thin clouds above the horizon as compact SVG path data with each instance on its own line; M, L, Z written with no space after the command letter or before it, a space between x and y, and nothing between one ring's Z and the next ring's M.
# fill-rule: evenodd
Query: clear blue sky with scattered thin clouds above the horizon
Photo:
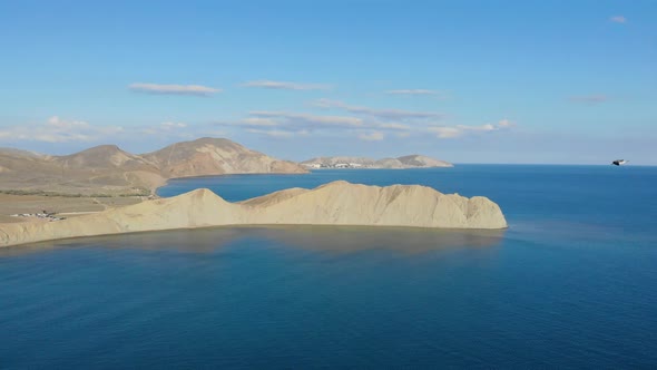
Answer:
M2 1L0 146L657 164L657 1Z

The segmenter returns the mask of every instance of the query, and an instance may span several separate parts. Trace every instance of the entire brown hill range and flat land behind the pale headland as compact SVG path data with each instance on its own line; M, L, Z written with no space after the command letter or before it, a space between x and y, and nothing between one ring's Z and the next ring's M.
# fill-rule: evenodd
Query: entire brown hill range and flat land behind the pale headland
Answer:
M167 179L185 176L305 173L222 138L177 143L148 154L100 145L67 156L0 148L0 191L81 195L150 194Z

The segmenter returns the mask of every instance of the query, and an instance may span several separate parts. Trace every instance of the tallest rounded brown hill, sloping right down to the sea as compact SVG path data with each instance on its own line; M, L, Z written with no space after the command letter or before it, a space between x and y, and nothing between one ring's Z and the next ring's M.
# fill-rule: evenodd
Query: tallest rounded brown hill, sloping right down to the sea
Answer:
M252 173L306 173L300 165L272 158L224 138L204 137L144 154L163 176L188 177Z

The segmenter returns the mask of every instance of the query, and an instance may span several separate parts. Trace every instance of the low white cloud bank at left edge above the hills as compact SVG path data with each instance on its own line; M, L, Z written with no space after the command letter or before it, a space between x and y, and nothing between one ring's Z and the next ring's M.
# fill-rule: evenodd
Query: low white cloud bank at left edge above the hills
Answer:
M37 125L20 125L0 128L0 140L69 143L94 142L122 133L121 126L94 126L84 120L48 118Z

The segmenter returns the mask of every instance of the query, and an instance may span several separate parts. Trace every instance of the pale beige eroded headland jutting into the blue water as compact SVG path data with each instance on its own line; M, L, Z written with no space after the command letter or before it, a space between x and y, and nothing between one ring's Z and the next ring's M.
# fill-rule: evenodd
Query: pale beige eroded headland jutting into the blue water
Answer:
M507 227L500 207L486 197L447 195L419 185L379 187L334 182L241 203L196 189L65 221L0 224L0 246L143 231L273 224Z

